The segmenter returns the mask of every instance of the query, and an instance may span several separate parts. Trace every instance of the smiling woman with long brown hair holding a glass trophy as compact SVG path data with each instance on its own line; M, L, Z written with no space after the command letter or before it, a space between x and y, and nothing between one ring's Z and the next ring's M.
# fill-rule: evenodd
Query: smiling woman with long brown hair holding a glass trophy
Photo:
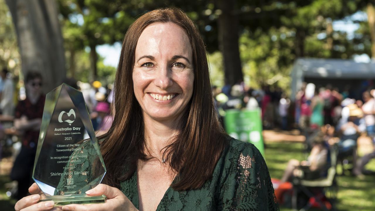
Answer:
M116 115L101 137L105 185L87 192L108 200L63 210L278 209L260 152L220 127L204 44L182 11L158 9L132 24L114 90ZM16 210L52 209L37 191Z

